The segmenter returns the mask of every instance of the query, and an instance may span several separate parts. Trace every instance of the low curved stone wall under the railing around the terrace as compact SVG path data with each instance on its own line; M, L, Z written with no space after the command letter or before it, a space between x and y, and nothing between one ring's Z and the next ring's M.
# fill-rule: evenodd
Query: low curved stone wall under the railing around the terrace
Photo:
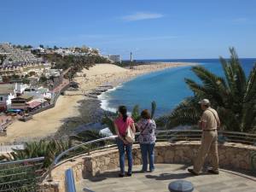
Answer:
M177 143L156 143L154 155L155 163L181 163L192 165L195 155L197 154L199 142L177 142ZM251 169L250 155L256 153L255 146L248 146L240 143L224 143L218 146L219 166L236 169ZM133 145L134 165L140 165L141 152L137 144ZM52 176L54 183L44 182L44 191L46 192L64 192L65 191L65 171L68 168L73 169L74 180L79 183L80 180L87 176L96 176L119 167L119 152L117 148L102 149L82 155L66 161L57 166Z

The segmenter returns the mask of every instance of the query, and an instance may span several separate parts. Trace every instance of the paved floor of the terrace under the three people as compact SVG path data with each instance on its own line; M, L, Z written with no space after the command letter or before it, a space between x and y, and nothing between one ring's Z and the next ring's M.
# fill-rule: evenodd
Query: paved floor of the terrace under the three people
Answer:
M187 166L178 164L156 164L154 172L141 173L141 166L133 166L131 177L117 177L119 169L103 172L97 177L88 177L77 185L77 191L88 192L164 192L168 184L185 179L194 184L193 192L255 192L256 177L238 172L221 170L219 175L203 172L192 176Z

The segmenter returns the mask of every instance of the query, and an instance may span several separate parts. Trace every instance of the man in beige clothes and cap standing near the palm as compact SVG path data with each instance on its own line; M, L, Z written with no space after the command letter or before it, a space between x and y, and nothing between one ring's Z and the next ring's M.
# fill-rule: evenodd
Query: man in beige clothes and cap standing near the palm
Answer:
M201 109L204 111L199 121L199 126L202 129L201 148L194 162L194 168L188 169L193 175L199 175L201 168L207 158L211 155L212 169L208 172L218 174L218 132L220 126L218 113L211 108L211 103L207 99L201 100Z

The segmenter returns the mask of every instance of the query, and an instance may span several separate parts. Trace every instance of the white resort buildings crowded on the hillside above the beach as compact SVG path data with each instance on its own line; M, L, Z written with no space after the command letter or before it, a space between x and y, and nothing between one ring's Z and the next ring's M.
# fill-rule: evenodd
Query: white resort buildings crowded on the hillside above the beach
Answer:
M63 94L69 86L73 87L71 77L75 67L55 68L55 62L48 61L41 52L34 53L34 49L20 48L19 45L0 44L1 82L0 82L0 113L1 135L6 136L8 126L15 119L26 121L32 115L43 112L55 106L58 96ZM31 46L29 46L31 47ZM84 50L84 48L81 48ZM61 49L48 51L45 55L61 55ZM87 48L87 54L70 51L68 55L74 57L90 57L89 54L102 57L99 50ZM33 54L32 54L33 53ZM67 56L68 56L67 55ZM103 57L102 57L103 58ZM82 63L81 65L86 65ZM65 70L64 70L65 69Z

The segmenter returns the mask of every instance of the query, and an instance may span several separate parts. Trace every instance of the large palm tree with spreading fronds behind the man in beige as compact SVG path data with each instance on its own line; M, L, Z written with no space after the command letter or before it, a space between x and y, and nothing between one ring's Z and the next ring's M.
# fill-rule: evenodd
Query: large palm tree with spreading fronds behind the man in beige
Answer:
M230 48L230 60L220 57L224 77L219 77L205 67L192 67L201 84L185 79L194 96L185 98L166 117L169 128L178 125L195 127L201 116L198 102L208 98L216 108L224 130L253 132L256 130L256 65L248 77L244 73L236 50Z

